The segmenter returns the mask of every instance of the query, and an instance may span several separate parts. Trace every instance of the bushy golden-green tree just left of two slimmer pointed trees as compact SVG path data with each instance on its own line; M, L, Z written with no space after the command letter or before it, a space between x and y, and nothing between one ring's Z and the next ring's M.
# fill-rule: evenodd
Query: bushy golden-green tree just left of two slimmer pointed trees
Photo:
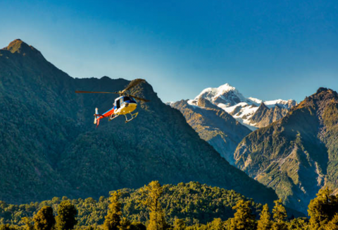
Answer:
M250 208L250 201L239 200L237 204L232 207L236 210L234 218L230 220L231 230L250 230L255 229L256 220Z

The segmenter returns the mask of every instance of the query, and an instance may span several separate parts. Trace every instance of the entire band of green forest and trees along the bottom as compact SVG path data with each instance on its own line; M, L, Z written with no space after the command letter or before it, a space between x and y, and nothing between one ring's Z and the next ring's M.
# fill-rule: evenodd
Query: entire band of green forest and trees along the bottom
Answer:
M233 190L200 183L112 191L109 198L53 198L27 205L0 202L1 230L333 230L338 196L322 189L308 205L310 218L288 215L282 200L272 209ZM272 211L272 212L271 212Z

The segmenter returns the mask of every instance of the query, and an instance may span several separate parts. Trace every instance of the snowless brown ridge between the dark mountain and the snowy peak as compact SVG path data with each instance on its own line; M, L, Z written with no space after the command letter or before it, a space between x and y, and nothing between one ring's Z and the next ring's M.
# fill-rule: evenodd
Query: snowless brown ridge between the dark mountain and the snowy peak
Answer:
M230 114L204 97L199 97L195 105L189 104L187 100L181 100L170 106L179 109L199 136L213 145L230 164L234 164L234 150L251 132L249 128L242 126Z

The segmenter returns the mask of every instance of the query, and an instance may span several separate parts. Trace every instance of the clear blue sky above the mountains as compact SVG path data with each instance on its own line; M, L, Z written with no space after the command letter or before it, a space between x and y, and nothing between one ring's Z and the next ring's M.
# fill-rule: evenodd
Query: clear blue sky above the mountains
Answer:
M32 44L77 78L146 78L164 102L230 83L301 101L338 90L337 0L0 1L0 47Z

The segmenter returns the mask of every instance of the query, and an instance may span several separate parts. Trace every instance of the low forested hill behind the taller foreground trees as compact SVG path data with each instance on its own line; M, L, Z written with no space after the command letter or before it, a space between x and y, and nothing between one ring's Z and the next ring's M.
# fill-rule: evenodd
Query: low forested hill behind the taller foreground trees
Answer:
M121 191L121 203L123 214L134 222L146 222L149 219L149 211L140 203L144 199L141 189L123 188ZM113 192L111 192L113 193ZM53 207L57 213L58 205L68 198L53 198L43 202L31 202L26 205L9 205L6 202L0 204L0 224L20 224L23 217L33 217L45 205ZM214 218L228 219L233 216L232 207L239 200L249 200L234 190L201 185L200 183L179 183L176 186L164 185L161 204L165 216L170 224L175 218L185 219L187 224L199 222L206 224ZM72 200L78 210L79 225L103 224L108 210L108 198L101 197ZM262 205L252 202L251 208L255 213L261 211Z

